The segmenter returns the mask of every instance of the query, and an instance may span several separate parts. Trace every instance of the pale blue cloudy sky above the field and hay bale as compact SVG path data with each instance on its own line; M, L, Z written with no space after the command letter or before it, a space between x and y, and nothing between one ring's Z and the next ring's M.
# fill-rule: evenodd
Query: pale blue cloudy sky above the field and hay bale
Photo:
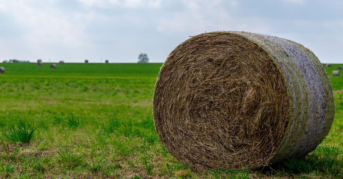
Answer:
M300 42L343 63L342 0L0 0L0 60L164 62L189 36L216 30Z

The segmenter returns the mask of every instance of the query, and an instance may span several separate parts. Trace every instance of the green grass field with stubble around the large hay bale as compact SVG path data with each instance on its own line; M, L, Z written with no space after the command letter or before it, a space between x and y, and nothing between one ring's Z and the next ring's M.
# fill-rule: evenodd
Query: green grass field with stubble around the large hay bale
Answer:
M338 64L326 67L336 105L326 139L304 158L254 171L199 171L163 148L151 109L162 63L49 65L0 64L0 178L343 177Z

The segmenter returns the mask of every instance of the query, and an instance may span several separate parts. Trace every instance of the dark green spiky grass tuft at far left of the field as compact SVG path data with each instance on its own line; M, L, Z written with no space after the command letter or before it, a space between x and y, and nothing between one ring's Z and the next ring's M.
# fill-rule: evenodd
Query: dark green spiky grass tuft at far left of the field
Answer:
M33 123L19 122L17 127L12 126L9 132L4 132L2 137L13 142L29 143L34 137L36 127Z

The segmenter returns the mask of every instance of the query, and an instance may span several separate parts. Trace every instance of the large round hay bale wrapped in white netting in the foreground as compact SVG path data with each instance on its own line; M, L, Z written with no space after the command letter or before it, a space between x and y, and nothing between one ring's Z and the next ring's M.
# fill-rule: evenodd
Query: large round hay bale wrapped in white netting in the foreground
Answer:
M176 159L199 168L267 166L316 149L328 134L330 80L304 46L218 31L181 43L161 67L153 118Z

